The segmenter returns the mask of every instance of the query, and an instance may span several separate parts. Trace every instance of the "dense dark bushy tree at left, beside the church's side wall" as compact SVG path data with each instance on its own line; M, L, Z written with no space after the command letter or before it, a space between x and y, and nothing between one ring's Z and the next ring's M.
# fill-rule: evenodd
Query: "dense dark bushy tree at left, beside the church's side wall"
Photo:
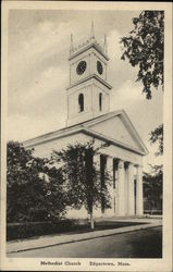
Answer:
M45 221L65 211L62 174L17 141L7 150L8 222Z

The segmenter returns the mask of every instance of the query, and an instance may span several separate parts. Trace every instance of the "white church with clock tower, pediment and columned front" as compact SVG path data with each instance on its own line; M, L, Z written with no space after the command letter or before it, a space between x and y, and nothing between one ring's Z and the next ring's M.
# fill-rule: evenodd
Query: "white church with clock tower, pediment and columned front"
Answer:
M86 143L95 138L96 145L109 143L95 161L112 172L110 209L97 209L95 217L129 217L143 214L143 157L147 148L124 110L110 112L110 89L107 66L107 40L100 46L91 25L90 38L74 48L71 36L70 86L66 88L67 119L62 129L26 140L38 157L49 157L53 149L67 144ZM100 171L100 178L101 173ZM85 209L70 210L71 218L86 218Z

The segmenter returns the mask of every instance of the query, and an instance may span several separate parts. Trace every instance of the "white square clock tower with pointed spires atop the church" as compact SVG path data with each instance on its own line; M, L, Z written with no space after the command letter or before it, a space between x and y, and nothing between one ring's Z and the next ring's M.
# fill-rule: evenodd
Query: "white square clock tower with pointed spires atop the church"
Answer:
M107 82L107 39L100 46L91 24L90 38L74 47L71 35L70 86L67 92L66 125L74 125L109 112L110 89Z

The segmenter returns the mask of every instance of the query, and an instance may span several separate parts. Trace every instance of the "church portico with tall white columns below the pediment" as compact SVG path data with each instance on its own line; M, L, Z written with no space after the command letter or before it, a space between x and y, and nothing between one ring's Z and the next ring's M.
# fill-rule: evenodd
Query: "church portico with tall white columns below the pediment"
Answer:
M106 209L102 215L143 215L143 166L121 158L104 156L104 159L111 178L111 209ZM97 168L101 169L99 161L95 159Z

